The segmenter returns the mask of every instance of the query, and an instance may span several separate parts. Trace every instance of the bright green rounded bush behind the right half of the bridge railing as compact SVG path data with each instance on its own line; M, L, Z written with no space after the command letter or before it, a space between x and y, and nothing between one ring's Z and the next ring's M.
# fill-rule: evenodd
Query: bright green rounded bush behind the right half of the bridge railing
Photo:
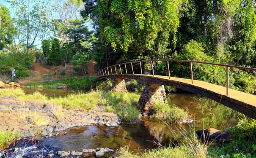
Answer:
M195 40L190 40L184 45L181 54L173 54L172 59L194 60L201 62L215 62L211 56L204 53L204 48L201 43ZM172 63L172 74L178 77L190 78L190 66L184 63ZM215 83L218 85L226 84L225 67L197 64L193 63L193 76L195 79Z

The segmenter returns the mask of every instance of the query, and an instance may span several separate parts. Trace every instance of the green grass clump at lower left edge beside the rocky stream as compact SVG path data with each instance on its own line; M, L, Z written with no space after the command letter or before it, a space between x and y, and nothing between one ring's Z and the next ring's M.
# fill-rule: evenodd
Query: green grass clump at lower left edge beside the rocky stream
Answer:
M0 151L1 149L11 145L14 140L19 137L19 134L9 132L9 131L0 131Z

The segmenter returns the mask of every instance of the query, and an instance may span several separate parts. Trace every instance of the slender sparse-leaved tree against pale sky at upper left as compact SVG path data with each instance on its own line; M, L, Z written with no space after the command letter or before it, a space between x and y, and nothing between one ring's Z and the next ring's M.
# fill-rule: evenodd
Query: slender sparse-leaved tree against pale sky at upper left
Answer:
M25 44L27 53L34 46L37 38L47 35L47 1L41 0L8 0L16 8L16 23L20 30L21 42Z

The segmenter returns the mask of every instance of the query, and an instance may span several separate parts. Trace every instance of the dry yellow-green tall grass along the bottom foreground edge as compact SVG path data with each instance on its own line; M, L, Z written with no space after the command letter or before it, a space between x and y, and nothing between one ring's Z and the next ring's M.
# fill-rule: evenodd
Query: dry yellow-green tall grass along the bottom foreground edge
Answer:
M190 129L178 129L177 127L175 131L171 128L169 129L179 141L176 147L162 146L142 154L130 153L129 147L121 147L114 158L209 158L208 143L201 142L198 139L193 127L190 127ZM176 131L182 134L182 139L177 135Z

